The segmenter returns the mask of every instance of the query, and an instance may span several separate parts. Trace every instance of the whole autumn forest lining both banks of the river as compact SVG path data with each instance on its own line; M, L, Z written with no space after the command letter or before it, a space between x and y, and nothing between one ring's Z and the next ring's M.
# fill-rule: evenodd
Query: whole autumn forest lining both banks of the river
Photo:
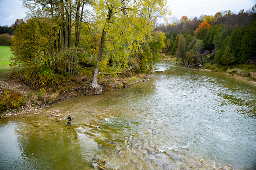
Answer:
M238 13L165 18L164 24L157 18L171 14L166 0L23 0L23 5L26 18L0 27L0 45L12 52L9 78L36 91L38 105L71 91L92 95L127 87L160 61L256 79L256 5Z

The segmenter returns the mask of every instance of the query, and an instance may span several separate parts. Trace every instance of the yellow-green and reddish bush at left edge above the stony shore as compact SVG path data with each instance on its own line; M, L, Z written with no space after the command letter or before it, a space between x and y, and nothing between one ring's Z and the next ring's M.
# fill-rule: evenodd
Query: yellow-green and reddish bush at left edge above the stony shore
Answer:
M17 109L24 104L21 93L6 87L0 87L0 113L8 109Z

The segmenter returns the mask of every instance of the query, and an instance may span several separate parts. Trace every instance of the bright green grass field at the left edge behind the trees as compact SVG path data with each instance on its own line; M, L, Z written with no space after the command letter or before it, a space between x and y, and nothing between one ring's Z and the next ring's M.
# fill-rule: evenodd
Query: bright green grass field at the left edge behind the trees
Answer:
M0 70L9 70L10 61L9 58L12 56L12 52L10 51L10 47L0 46Z

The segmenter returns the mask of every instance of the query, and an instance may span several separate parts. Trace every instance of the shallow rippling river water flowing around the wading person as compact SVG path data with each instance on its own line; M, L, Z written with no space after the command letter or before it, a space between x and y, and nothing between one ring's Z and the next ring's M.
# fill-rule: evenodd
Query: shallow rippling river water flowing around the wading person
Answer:
M255 103L254 81L162 63L147 82L2 119L0 169L254 169Z

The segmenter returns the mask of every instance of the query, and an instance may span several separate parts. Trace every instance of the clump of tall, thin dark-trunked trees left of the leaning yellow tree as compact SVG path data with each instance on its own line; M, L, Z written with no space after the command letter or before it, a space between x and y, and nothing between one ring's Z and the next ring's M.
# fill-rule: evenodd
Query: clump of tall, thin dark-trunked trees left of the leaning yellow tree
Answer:
M89 4L88 1L23 0L23 2L28 11L27 18L36 21L39 30L42 29L42 24L48 25L47 37L52 41L52 51L49 51L49 54L54 60L52 70L56 73L69 72L74 75L84 6ZM71 17L73 14L75 14L74 20ZM72 26L75 26L73 47L71 45Z

